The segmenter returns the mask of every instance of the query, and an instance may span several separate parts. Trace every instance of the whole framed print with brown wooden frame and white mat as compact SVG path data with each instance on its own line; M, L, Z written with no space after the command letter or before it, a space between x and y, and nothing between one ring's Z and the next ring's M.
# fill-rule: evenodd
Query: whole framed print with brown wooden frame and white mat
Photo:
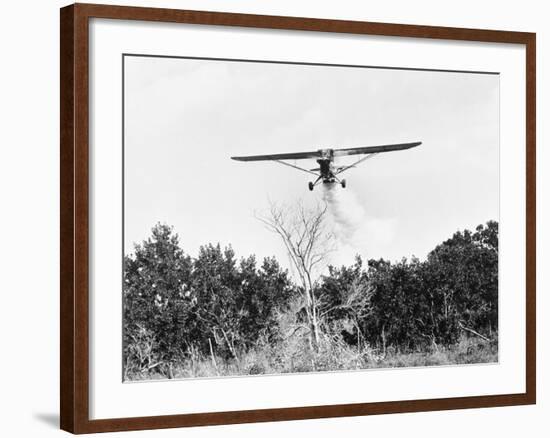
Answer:
M61 9L61 427L535 403L535 35Z

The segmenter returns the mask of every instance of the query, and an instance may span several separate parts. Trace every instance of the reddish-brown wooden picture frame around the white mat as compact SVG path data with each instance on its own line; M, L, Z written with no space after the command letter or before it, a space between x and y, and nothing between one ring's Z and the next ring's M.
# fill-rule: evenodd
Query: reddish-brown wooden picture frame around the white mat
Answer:
M89 419L88 21L91 17L432 38L526 46L526 392L431 400ZM314 18L74 4L61 9L61 428L73 433L534 404L536 401L535 34Z

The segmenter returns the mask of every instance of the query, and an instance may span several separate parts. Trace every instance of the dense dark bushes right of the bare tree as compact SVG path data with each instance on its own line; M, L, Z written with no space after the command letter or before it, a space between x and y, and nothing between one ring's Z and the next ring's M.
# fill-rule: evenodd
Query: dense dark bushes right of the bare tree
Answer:
M498 224L457 232L425 262L391 264L360 258L352 267L330 268L318 294L328 302L328 321L360 311L346 339L385 350L451 344L463 330L491 336L498 329ZM349 291L363 290L368 303L350 306Z

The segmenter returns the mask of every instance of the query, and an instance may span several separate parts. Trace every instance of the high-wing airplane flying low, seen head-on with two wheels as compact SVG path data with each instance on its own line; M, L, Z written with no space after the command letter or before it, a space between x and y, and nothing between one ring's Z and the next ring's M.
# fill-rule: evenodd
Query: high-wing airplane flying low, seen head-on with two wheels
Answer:
M364 146L356 148L345 148L345 149L319 149L317 151L311 152L292 152L288 154L272 154L272 155L248 155L244 157L231 157L232 160L237 161L275 161L285 166L293 167L294 169L301 170L313 174L317 177L314 182L309 182L309 190L323 182L323 184L333 184L335 182L339 183L342 188L346 188L346 180L340 179L338 175L345 172L348 169L356 167L358 164L362 163L369 158L374 157L375 155L382 152L391 152L391 151L402 151L405 149L414 148L420 146L422 142L417 141L414 143L400 143L400 144L388 144L381 146ZM348 155L364 155L364 157L355 161L354 163L346 166L336 167L334 165L335 157L344 157ZM319 167L315 169L304 169L303 167L296 166L295 164L287 163L283 160L303 160L306 158L316 158Z

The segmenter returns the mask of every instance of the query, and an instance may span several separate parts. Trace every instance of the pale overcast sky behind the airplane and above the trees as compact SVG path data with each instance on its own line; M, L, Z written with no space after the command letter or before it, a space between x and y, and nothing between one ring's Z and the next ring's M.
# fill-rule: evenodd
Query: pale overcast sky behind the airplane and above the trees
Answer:
M498 75L126 57L125 252L162 222L191 256L220 242L288 267L254 212L326 193L306 173L229 157L422 141L348 171L328 222L358 228L334 263L422 259L498 220L498 117Z

